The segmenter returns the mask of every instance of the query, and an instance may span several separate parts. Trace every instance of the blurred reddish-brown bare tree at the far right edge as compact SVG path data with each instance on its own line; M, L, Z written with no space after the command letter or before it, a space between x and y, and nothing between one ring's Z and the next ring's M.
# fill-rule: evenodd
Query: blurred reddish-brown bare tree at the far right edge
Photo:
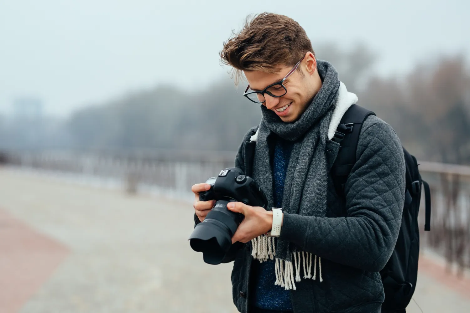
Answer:
M421 116L419 135L427 134L432 140L432 145L426 145L428 159L468 163L469 71L461 56L444 58L431 70L430 75L426 69L418 69L408 78L407 107Z

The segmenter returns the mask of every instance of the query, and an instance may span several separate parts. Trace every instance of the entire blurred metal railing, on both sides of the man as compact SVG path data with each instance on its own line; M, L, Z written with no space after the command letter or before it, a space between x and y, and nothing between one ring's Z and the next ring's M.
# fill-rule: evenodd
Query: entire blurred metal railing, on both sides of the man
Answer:
M116 178L128 192L139 185L188 192L194 183L233 167L234 152L40 152L8 153L4 163L77 175ZM424 232L424 192L418 216L420 244L456 264L459 273L470 268L470 167L421 161L420 173L431 188L431 231Z

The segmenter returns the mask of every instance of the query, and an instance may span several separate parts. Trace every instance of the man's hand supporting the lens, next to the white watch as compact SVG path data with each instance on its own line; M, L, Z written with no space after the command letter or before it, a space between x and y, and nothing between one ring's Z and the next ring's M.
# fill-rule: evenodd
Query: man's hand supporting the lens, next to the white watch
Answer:
M237 241L243 243L270 231L273 226L273 212L266 211L261 206L247 206L243 202L229 202L227 208L232 212L245 215L232 237L232 244Z

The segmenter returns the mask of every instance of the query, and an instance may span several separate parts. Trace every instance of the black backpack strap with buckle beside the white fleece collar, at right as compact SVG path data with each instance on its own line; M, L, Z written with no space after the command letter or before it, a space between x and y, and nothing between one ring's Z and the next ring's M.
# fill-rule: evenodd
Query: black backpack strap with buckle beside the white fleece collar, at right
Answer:
M362 123L369 115L376 115L366 108L353 104L341 118L333 141L339 143L338 155L331 168L338 195L344 194L346 180L356 163L356 150Z

